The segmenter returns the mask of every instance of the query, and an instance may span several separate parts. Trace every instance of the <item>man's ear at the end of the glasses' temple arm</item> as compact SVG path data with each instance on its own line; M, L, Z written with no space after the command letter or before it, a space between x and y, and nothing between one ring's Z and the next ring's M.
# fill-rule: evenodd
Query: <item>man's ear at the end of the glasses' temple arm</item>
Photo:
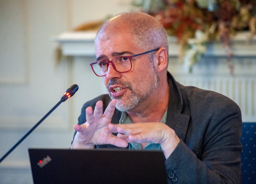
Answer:
M167 50L164 47L160 47L158 51L156 51L156 68L158 72L162 72L163 70L167 70L168 65L168 54Z

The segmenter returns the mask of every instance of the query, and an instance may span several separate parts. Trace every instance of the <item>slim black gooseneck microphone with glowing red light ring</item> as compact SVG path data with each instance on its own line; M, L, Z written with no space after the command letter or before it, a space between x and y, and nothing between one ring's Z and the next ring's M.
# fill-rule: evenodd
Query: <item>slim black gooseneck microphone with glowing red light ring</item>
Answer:
M35 124L4 156L2 156L2 158L0 159L0 163L6 158L6 156L8 156L34 129L36 129L36 127L38 127L38 125L40 125L42 123L43 120L45 120L45 118L47 118L52 111L54 111L62 102L65 102L68 98L70 98L71 96L73 96L76 91L78 90L78 85L73 84L72 86L70 86L70 88L68 88L66 90L66 92L64 93L64 95L60 98L60 101L37 123Z

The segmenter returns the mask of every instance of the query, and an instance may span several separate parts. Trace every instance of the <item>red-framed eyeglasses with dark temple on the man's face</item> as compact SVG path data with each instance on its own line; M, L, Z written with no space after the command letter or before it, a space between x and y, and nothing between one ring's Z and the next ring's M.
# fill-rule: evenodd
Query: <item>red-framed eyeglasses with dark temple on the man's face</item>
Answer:
M94 72L94 74L96 74L96 76L102 77L105 76L108 72L108 66L111 63L113 68L120 73L124 73L124 72L129 72L130 70L132 70L132 58L135 56L140 56L142 54L147 54L149 52L153 52L158 50L159 48L147 51L147 52L143 52L140 54L136 54L133 56L120 56L118 58L114 58L111 61L105 61L105 60L101 60L101 61L94 61L90 64L90 66L92 67L92 70Z

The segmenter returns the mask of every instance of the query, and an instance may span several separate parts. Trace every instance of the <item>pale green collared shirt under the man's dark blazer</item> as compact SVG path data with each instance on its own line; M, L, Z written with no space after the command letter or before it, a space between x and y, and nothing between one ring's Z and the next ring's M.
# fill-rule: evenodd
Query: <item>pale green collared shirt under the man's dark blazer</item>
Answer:
M164 112L164 116L161 120L161 123L166 124L166 116L167 116L167 109ZM132 120L128 116L126 112L122 112L122 116L119 120L119 124L132 124ZM142 150L142 147L139 143L131 142L128 145L129 150ZM148 142L144 150L162 150L160 144L155 144L153 142Z

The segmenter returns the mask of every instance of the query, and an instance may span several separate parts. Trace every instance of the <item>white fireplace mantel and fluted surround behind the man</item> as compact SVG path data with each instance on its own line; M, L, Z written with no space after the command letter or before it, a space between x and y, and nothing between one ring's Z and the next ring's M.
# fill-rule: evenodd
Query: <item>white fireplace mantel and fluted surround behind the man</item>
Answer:
M60 44L63 56L73 56L74 80L81 80L81 73L87 70L84 77L92 78L94 83L98 84L98 88L91 88L92 91L95 90L91 98L106 92L102 81L93 76L89 66L95 59L95 36L96 32L64 32L54 38ZM193 72L189 73L178 61L179 45L174 37L169 38L168 70L181 84L213 90L228 96L240 106L243 122L256 122L256 36L250 44L246 43L247 38L248 32L232 38L234 76L230 75L226 53L220 42L209 42L206 53L200 62L194 65Z

